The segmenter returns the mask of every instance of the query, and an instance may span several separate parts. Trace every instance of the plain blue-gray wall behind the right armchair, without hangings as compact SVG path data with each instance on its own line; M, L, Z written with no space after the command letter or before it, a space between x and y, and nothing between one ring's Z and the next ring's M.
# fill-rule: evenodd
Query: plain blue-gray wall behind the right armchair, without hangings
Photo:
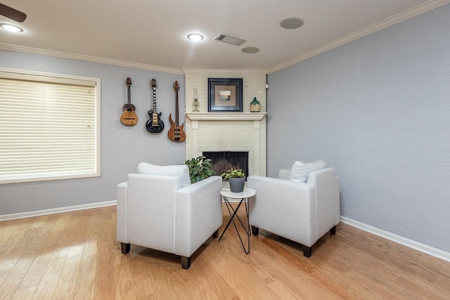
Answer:
M269 74L268 175L324 159L341 214L450 252L450 5Z

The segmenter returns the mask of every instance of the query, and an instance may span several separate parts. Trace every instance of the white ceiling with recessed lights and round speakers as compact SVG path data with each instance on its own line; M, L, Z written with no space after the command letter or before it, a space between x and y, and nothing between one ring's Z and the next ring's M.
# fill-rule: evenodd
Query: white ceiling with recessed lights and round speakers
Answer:
M312 53L398 22L444 0L1 0L27 19L0 22L23 27L0 30L0 48L58 51L90 59L182 69L276 70ZM394 16L394 17L393 17ZM285 30L279 22L302 18ZM375 26L373 26L375 25ZM187 34L205 39L193 42ZM241 46L214 41L217 34L245 39ZM331 46L330 46L331 45ZM241 48L261 51L247 54ZM48 52L46 52L48 51ZM92 58L94 57L94 58ZM83 59L83 57L81 57ZM86 60L89 58L86 57Z

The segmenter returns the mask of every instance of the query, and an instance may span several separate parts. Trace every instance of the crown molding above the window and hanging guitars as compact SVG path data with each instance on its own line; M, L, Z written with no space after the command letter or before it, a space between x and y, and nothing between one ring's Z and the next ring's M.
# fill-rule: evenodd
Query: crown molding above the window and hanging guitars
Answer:
M119 67L132 67L135 69L164 72L164 73L170 73L170 74L179 74L179 75L184 74L183 71L181 71L180 69L172 69L169 67L159 67L156 65L146 65L143 63L131 63L131 62L127 62L124 60L113 60L110 58L99 58L96 56L84 56L82 54L52 51L52 50L45 50L45 49L25 47L25 46L17 46L17 45L11 45L11 44L0 43L0 50L23 52L23 53L30 53L30 54L39 54L42 56L53 56L56 58L68 58L68 59L72 59L72 60L82 60L82 61L87 61L90 63L103 63L105 65L117 65Z

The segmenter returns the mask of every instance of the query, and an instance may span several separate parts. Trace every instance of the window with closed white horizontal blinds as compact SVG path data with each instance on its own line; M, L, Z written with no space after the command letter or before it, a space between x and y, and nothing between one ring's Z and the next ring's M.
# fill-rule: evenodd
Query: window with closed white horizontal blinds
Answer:
M0 183L100 176L100 79L0 69Z

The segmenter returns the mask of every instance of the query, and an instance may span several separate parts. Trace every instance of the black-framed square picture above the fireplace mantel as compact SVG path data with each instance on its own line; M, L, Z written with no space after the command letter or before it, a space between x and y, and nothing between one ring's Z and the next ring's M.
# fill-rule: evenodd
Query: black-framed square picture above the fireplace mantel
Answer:
M242 78L208 78L208 112L242 112Z

